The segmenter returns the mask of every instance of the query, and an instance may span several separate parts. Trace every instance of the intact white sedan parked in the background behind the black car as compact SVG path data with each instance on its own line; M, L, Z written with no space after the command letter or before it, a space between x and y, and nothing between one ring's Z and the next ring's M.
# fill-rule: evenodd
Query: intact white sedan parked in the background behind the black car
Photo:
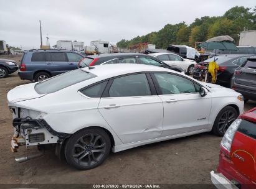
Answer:
M156 57L159 60L162 60L164 63L168 64L169 66L175 65L181 68L184 68L187 71L187 75L192 75L194 72L194 65L196 65L196 61L189 60L174 53L151 53L149 54L152 57Z

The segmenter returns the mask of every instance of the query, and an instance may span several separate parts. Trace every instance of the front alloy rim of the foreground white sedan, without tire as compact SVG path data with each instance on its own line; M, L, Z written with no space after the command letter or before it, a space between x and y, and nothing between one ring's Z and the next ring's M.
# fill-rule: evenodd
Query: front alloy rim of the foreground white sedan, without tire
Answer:
M227 110L224 111L222 116L220 116L218 125L219 125L219 131L223 132L223 134L227 131L230 124L232 124L233 121L235 121L235 113L234 111Z

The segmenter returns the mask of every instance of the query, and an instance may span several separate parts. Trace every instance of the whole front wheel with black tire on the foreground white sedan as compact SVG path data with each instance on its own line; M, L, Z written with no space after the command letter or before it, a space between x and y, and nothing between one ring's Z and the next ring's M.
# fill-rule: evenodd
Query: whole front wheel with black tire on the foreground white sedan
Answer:
M238 113L232 106L226 106L220 110L217 115L214 126L212 127L212 132L217 136L224 136L225 132L229 128L235 119L237 119Z

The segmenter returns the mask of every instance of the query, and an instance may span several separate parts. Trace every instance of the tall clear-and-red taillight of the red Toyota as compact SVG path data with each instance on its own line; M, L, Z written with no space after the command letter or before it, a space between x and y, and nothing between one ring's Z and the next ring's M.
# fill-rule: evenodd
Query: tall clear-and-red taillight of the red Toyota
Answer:
M228 157L230 157L230 149L235 136L235 132L237 131L241 121L242 119L236 119L234 122L232 122L220 142L220 150L222 150L222 152L224 152L224 154Z

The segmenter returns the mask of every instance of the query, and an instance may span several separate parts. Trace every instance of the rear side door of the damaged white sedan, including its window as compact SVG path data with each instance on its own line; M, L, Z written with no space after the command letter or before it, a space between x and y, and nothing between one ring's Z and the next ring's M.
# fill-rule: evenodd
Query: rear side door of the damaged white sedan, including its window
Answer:
M98 110L124 144L154 139L163 131L163 103L145 73L110 80Z

